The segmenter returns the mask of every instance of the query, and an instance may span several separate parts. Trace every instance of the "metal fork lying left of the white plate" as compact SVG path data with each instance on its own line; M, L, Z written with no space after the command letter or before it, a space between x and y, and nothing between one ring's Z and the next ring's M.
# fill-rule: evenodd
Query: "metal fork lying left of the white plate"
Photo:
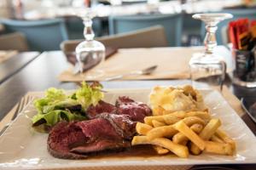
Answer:
M33 96L31 95L26 95L24 97L22 97L20 99L20 102L17 104L16 106L16 110L15 110L15 113L14 115L12 116L11 120L9 121L9 123L7 123L3 129L1 130L0 132L0 136L5 132L5 130L9 127L9 125L11 124L11 122L13 122L15 120L15 118L19 115L19 113L21 111L23 111L23 109L25 108L25 106L30 102L32 101L32 99L34 99Z

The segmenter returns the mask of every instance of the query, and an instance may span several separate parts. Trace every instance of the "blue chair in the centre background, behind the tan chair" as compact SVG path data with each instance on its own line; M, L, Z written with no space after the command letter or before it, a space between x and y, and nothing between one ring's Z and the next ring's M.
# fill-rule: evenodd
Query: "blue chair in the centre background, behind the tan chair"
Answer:
M141 14L129 16L110 16L108 19L110 35L136 31L160 25L166 30L169 46L181 46L181 14Z

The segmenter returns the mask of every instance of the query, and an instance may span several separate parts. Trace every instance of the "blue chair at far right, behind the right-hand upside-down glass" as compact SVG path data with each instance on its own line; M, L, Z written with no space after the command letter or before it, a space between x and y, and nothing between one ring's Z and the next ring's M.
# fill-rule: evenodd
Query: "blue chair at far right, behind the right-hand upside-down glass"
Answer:
M218 13L230 13L233 14L233 18L230 20L223 20L218 23L218 30L216 31L216 39L218 45L224 45L224 38L222 37L222 30L227 27L231 20L238 20L242 18L248 18L249 20L256 20L256 9L225 9ZM201 37L205 37L206 29L205 24L201 25Z

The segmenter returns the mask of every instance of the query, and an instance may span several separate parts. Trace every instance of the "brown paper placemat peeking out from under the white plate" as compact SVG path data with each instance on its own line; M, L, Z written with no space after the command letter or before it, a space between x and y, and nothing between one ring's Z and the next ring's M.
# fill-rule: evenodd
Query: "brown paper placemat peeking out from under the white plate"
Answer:
M37 97L39 95L42 95L42 92L29 92L26 94L26 96L33 96ZM226 86L224 86L222 95L224 96L224 99L227 100L227 102L230 104L230 106L236 111L236 113L239 116L243 116L245 113L241 108L240 100L236 98L234 94L232 94ZM17 105L9 111L9 113L3 118L3 120L0 122L0 130L5 126L6 123L8 123L11 120L11 117L14 115ZM185 170L189 169L192 166L148 166L146 167L148 170ZM62 168L62 169L68 169L68 168ZM70 169L70 168L69 168ZM86 167L86 168L72 168L72 169L91 169L91 170L143 170L145 167Z

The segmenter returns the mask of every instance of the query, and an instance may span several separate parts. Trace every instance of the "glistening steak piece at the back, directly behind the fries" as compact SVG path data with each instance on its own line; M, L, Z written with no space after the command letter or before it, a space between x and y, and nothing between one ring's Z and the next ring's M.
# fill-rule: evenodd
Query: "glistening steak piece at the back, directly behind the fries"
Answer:
M136 102L126 96L119 97L116 101L117 113L119 115L129 115L131 121L143 122L145 116L151 116L152 111L148 105Z

